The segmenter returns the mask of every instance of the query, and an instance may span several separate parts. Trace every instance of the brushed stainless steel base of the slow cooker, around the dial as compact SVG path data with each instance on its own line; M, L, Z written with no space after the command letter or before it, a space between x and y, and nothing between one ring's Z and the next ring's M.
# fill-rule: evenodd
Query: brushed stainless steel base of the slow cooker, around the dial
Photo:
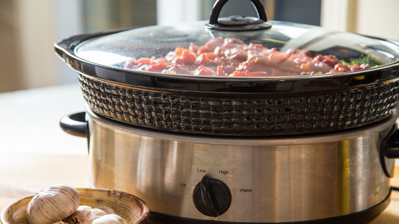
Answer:
M218 138L135 127L90 109L87 114L92 185L137 195L151 212L225 222L297 222L360 212L390 193L380 144L395 116L322 135ZM231 191L223 215L208 217L193 204L192 192L205 174Z

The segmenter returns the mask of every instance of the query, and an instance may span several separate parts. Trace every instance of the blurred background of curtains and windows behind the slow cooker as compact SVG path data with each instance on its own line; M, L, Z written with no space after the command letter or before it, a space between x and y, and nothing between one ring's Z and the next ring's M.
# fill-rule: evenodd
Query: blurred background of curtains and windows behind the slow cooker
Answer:
M54 42L79 33L209 19L215 0L0 0L0 92L77 82ZM399 40L397 0L263 0L269 19ZM229 12L229 14L226 14ZM256 16L231 0L220 16Z

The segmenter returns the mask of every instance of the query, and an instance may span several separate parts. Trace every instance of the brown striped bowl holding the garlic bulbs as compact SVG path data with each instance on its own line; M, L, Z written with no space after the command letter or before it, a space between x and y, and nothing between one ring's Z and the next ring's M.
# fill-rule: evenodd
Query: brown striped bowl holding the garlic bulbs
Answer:
M117 190L76 188L80 195L79 206L98 208L108 214L121 216L127 224L145 223L149 216L147 204L140 198ZM26 209L34 195L14 201L0 215L3 224L28 224Z

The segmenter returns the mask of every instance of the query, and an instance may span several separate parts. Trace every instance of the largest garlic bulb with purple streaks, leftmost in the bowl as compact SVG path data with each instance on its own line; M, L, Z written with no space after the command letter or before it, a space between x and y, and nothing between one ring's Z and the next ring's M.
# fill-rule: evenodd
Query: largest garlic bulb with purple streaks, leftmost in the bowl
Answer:
M30 224L52 224L70 216L79 206L79 193L68 185L54 185L39 191L28 204Z

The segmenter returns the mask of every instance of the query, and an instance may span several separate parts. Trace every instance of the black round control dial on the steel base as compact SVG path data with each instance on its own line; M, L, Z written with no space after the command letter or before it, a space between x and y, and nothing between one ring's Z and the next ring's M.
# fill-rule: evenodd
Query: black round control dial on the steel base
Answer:
M231 192L225 183L205 175L195 186L192 199L198 211L204 215L216 217L229 209Z

